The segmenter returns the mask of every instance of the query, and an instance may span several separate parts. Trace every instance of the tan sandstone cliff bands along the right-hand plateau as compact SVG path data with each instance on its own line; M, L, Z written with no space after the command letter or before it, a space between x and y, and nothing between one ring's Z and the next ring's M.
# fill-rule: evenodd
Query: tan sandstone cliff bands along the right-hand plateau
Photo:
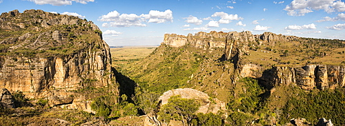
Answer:
M315 41L324 42L324 40ZM299 43L300 45L304 44L304 46L308 47L308 44L315 43L315 41L313 42L313 40L297 36L274 34L272 32L264 32L263 34L254 35L249 31L228 33L213 31L210 33L198 32L194 36L192 34L188 34L188 36L165 34L163 44L170 45L175 48L188 45L204 50L223 48L224 60L230 61L234 64L234 69L238 71L239 76L259 78L262 83L265 83L268 87L292 84L299 85L299 87L302 87L304 90L312 90L314 87L319 90L324 90L325 88L335 89L336 87L344 87L345 70L344 66L341 65L308 63L308 65L305 66L290 65L271 67L268 64L255 64L252 63L250 59L247 59L248 56L251 55L250 52L257 53L259 51L258 49L261 47L266 48L264 48L264 51L261 49L261 54L266 55L269 52L273 52L273 49L271 49L273 47L284 46L284 48L288 48L288 46L293 44L297 46L296 43ZM338 47L344 46L344 43L339 44L340 45L338 45ZM311 46L315 45L311 44ZM277 48L277 50L282 53L282 55L277 56L284 57L287 55L288 50L282 50L282 48ZM277 50L275 50L275 52L277 52ZM301 52L301 50L299 50L299 52ZM319 50L316 52L319 52ZM313 56L309 58L313 59ZM219 57L219 59L221 58ZM244 61L244 59L246 59L246 61ZM273 59L271 57L270 59L273 61L276 60L275 63L279 63L279 59L277 58Z

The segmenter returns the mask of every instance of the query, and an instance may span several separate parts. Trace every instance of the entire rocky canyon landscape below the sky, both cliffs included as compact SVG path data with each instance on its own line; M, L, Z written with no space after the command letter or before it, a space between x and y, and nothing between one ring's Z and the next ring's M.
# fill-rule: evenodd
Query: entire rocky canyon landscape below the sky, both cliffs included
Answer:
M4 12L0 125L345 125L345 41L249 31L163 41L112 67L92 21Z

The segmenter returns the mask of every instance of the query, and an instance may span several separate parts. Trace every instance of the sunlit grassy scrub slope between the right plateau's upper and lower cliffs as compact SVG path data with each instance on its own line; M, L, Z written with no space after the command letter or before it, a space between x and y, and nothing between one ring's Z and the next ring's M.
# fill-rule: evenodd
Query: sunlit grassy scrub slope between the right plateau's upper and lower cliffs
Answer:
M249 55L242 62L258 65L305 65L307 63L341 65L345 50L344 41L331 39L299 38L297 41L281 42L275 45L250 43ZM341 59L342 58L342 59Z

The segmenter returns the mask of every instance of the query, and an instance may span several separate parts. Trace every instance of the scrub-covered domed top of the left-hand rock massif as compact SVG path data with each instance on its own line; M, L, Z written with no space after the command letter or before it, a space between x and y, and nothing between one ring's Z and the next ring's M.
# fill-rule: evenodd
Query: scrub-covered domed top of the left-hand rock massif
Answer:
M99 43L102 42L100 30L93 31L92 28L83 25L88 23L87 21L75 19L77 25L50 25L49 28L44 28L41 22L32 19L48 20L49 17L41 18L39 12L36 14L34 16L32 13L22 13L20 17L15 19L13 19L14 17L6 17L8 22L12 22L8 25L6 22L3 23L6 25L3 28L10 29L0 28L0 41L5 43L0 45L0 55L28 58L61 57L81 52L81 50L92 46L99 46ZM57 19L64 17L63 15L54 16ZM18 24L23 25L23 27L19 27ZM55 31L59 31L60 40L52 38Z

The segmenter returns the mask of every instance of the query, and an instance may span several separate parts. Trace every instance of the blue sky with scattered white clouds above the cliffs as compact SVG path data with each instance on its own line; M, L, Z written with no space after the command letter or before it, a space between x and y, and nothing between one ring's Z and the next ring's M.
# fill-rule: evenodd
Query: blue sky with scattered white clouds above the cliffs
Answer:
M44 10L93 21L108 45L159 45L164 34L248 30L345 39L341 0L0 0L0 12Z

